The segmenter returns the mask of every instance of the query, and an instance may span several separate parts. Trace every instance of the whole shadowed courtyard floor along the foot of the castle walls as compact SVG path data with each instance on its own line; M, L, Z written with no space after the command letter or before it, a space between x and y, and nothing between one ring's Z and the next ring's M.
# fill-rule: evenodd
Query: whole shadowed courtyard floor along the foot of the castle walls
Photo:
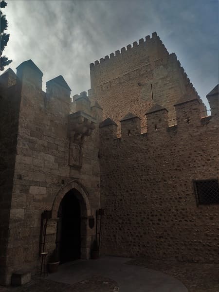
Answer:
M184 285L183 285L184 284ZM186 288L187 289L186 289ZM22 287L0 292L219 292L219 264L122 257L77 260Z

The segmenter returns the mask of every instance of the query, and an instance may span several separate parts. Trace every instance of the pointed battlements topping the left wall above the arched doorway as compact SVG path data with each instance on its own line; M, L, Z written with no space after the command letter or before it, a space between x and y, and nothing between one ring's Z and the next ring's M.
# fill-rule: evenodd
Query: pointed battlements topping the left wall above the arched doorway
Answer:
M72 101L70 97L72 90L62 75L47 81L46 92L44 92L42 91L43 73L32 60L22 62L16 69L17 74L11 68L1 74L0 88L3 91L15 90L16 87L18 91L26 91L28 96L31 90L32 103L41 104L45 110L56 113L62 112L64 115L82 110L89 115L93 115L97 120L101 119L101 107L98 103L91 107L86 91L82 91L80 95L74 95Z

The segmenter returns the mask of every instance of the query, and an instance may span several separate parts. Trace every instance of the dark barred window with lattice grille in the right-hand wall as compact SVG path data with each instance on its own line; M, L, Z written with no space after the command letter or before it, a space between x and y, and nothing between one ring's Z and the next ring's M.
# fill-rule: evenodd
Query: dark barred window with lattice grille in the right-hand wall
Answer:
M193 181L197 205L219 204L219 182L215 180Z

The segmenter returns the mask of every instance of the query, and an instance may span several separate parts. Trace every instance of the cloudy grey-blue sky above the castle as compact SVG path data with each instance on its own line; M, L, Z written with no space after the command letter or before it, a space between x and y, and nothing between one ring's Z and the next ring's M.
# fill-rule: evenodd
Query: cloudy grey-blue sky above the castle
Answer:
M7 0L10 67L32 59L72 95L90 89L90 66L156 31L201 98L219 82L218 0ZM5 68L7 69L7 67ZM208 105L207 105L208 106Z

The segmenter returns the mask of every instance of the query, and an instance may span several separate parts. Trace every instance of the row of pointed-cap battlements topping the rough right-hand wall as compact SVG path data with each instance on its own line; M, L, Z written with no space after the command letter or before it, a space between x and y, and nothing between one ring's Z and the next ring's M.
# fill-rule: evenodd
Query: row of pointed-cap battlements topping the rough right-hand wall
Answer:
M182 132L196 132L205 125L216 123L219 119L219 106L214 101L215 95L208 97L211 105L212 116L201 117L200 101L198 98L183 97L175 104L176 124L169 126L168 110L160 105L154 105L146 112L147 132L142 135L155 139L163 139L165 135L176 135ZM110 122L109 122L110 121ZM121 121L121 138L141 135L141 118L129 112ZM102 139L118 139L118 125L111 119L106 119L100 124Z

